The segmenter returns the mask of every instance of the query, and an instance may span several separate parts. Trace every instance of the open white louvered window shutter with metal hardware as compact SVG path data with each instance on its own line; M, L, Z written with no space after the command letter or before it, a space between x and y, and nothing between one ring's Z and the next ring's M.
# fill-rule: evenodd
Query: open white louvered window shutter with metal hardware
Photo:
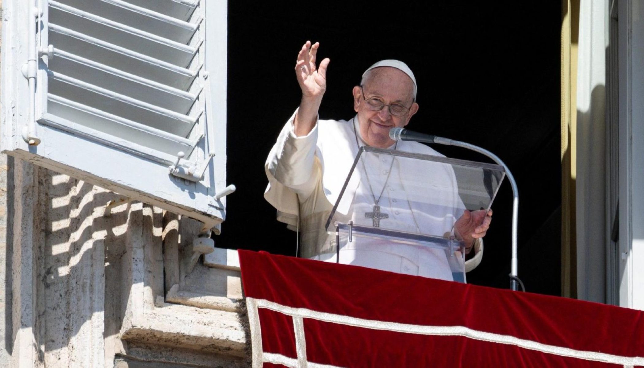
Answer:
M220 223L226 20L220 0L5 0L3 151Z

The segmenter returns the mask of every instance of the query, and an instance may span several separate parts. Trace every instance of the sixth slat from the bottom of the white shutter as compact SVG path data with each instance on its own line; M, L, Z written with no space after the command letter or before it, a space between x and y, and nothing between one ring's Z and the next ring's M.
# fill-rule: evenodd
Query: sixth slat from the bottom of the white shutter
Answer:
M59 0L57 2L150 34L162 35L182 44L189 43L198 27L196 23L190 23L124 1Z

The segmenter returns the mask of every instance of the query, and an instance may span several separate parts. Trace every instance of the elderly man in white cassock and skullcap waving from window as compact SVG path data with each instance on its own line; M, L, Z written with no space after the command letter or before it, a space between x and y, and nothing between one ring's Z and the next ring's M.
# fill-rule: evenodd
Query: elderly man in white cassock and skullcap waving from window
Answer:
M354 110L357 115L350 121L319 121L317 111L327 88L329 59L316 66L319 43L305 43L298 53L296 77L302 91L298 110L281 130L278 141L266 162L269 186L265 198L278 209L278 220L289 228L301 231L303 257L316 257L336 246L327 234L325 222L343 186L354 157L361 146L388 148L430 155L440 155L433 149L416 142L395 142L389 137L393 127L406 126L418 111L415 102L417 86L408 66L401 61L385 60L375 63L363 74L359 86L353 89ZM383 158L383 160L385 160ZM365 166L366 169L366 166ZM362 202L370 206L383 200L386 188L395 185L390 180L399 166L388 166L380 197L370 188L370 195ZM453 172L448 180L455 182ZM369 183L371 186L371 183ZM455 189L455 202L462 206ZM373 200L371 200L371 197ZM355 199L359 202L359 199ZM394 200L395 202L395 200ZM355 213L361 213L352 208ZM363 211L364 212L364 211ZM410 220L421 231L410 207ZM466 262L466 270L473 269L482 258L482 237L491 222L491 211L462 211L458 220L446 225L466 244L466 253L475 255ZM341 262L433 278L451 280L452 275L444 253L437 249L417 249L401 244L383 244L357 240L343 245ZM319 258L319 257L318 257ZM329 259L334 260L335 258Z

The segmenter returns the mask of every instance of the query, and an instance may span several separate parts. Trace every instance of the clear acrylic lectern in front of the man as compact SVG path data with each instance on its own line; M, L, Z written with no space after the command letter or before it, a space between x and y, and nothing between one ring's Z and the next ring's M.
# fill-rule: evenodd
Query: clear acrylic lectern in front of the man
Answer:
M325 244L300 255L465 282L466 244L455 223L465 209L487 212L504 177L495 164L360 148Z

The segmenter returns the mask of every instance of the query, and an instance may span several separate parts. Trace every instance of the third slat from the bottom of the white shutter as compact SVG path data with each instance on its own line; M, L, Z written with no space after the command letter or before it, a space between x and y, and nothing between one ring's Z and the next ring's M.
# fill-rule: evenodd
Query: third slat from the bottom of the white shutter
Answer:
M95 86L106 88L141 101L163 106L168 110L187 114L197 98L196 94L165 86L138 75L78 57L62 50L55 50L49 69L70 75Z

